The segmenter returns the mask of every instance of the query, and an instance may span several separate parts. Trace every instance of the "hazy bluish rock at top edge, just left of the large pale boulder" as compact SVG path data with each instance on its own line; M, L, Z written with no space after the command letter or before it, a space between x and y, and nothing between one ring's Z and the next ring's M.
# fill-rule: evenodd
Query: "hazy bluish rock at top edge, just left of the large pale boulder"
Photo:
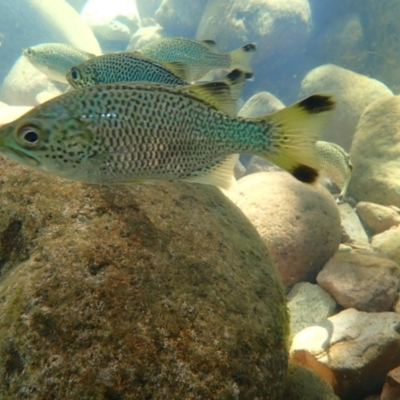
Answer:
M194 37L207 1L163 0L155 19L168 36Z

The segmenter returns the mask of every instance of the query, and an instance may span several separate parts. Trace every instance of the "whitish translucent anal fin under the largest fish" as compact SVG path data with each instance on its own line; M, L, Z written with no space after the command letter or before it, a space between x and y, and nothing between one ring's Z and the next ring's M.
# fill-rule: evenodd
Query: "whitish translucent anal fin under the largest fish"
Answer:
M200 171L199 175L180 180L185 182L204 183L207 185L218 186L225 190L230 190L236 185L233 170L238 159L239 154L231 154L213 167Z

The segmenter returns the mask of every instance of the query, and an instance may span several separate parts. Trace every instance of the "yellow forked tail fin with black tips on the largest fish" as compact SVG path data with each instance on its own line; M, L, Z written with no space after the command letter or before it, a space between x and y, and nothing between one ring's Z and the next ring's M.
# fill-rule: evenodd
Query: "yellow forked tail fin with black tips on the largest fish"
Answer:
M314 183L319 175L316 142L335 108L332 96L315 94L259 120L268 123L268 151L259 154L299 181Z

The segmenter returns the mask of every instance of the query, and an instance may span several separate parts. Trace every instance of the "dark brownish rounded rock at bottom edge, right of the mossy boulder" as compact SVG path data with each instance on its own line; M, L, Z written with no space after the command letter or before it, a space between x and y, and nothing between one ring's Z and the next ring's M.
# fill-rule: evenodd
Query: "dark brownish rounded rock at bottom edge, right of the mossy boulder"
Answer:
M340 400L332 386L312 369L289 363L282 400Z

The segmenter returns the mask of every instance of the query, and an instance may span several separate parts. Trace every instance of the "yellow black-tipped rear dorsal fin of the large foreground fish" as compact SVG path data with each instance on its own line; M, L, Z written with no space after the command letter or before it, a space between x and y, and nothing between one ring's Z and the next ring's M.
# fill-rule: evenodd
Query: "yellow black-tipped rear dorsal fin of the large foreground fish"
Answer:
M245 80L246 74L235 69L220 81L190 85L188 90L217 110L229 115L236 115L236 103L242 92Z

